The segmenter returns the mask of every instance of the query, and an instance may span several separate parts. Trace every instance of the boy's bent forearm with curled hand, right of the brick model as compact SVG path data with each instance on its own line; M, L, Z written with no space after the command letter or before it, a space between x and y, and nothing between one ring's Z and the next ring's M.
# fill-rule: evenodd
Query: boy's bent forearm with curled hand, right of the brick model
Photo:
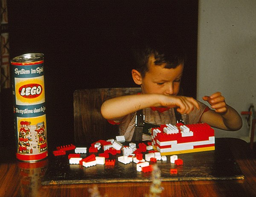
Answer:
M242 126L242 119L239 113L226 104L224 96L220 92L211 96L204 96L213 110L203 113L201 122L205 122L212 127L223 130L239 130Z

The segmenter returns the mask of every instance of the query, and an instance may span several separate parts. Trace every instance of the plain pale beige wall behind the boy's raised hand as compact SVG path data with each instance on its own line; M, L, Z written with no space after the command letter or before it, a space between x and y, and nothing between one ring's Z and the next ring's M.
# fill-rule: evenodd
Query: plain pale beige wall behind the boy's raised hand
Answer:
M256 107L256 0L199 0L198 93L220 91L228 104L241 111ZM249 140L249 128L216 137Z

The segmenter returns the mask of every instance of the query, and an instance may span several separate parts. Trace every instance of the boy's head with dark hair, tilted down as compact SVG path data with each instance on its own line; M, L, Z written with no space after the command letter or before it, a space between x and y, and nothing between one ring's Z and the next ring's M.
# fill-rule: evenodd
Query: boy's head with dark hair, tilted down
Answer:
M143 93L179 93L185 61L180 43L148 45L137 50L135 58L137 65L132 70L132 77Z

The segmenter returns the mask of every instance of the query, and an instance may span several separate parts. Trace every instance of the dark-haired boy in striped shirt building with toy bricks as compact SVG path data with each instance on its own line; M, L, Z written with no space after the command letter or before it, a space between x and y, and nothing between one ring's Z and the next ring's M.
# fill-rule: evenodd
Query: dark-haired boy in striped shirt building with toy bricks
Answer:
M119 124L119 133L126 141L151 140L150 128L175 125L177 121L205 122L224 130L239 130L241 117L226 104L221 93L203 97L213 110L193 98L178 96L185 55L178 45L168 48L146 46L137 52L137 68L131 74L140 85L141 94L105 101L102 116L112 124Z

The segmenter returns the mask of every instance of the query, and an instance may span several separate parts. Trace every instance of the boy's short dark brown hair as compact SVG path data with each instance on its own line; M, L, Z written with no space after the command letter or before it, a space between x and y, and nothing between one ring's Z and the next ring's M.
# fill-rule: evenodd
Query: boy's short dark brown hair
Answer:
M138 70L142 77L145 77L149 70L148 58L154 55L156 61L154 64L160 66L163 64L165 68L176 68L180 64L184 64L186 55L183 44L179 41L152 41L151 43L141 43L134 49L134 69Z

